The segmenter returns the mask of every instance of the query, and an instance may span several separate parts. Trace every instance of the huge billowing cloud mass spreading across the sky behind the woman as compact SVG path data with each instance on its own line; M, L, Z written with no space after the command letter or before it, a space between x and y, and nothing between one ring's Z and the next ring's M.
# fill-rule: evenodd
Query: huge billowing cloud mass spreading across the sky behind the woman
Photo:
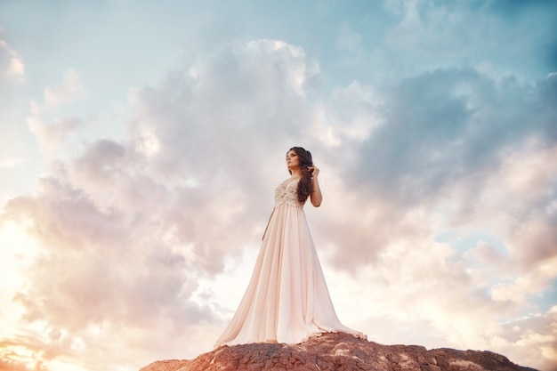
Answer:
M548 363L553 333L505 323L530 311L554 322L528 300L557 274L553 79L431 69L325 96L320 79L299 46L229 44L131 91L121 140L52 156L36 192L1 216L42 246L16 295L22 326L71 344L53 359L92 351L85 366L206 350L233 311L212 285L249 265L286 151L303 145L321 169L324 203L307 214L327 274L345 283L339 312L379 342L408 339L375 327L388 319L439 346L541 344ZM80 85L66 77L45 105ZM44 147L66 148L85 120L31 126Z

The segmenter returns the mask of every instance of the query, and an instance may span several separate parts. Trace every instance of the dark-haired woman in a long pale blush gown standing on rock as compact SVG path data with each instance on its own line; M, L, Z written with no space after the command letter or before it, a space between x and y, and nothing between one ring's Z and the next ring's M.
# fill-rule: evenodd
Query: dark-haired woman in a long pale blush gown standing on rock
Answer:
M343 332L303 213L310 198L319 207L319 169L301 147L287 152L290 178L275 190L275 207L246 293L215 346L238 343L300 343L311 335Z

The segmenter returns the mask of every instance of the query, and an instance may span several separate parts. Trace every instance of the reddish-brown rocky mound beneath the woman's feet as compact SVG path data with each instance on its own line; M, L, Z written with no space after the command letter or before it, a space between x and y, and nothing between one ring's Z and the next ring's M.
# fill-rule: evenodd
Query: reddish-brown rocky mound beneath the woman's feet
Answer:
M299 344L222 346L191 360L159 360L140 371L535 371L491 351L426 350L382 345L347 334L324 334Z

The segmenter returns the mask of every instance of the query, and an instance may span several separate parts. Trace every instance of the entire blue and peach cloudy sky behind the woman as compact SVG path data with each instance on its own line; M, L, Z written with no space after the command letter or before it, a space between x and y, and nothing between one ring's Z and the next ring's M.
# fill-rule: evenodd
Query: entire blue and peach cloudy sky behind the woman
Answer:
M557 3L0 2L0 370L212 351L287 149L346 326L557 367Z

